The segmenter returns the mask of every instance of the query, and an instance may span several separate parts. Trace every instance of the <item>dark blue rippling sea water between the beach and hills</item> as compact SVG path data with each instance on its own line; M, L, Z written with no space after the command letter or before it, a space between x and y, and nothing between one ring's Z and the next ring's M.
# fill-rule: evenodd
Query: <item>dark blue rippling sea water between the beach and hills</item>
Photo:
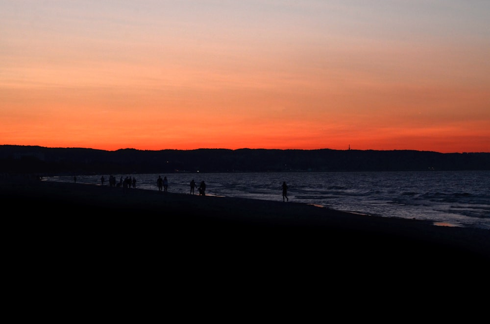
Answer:
M77 183L109 185L109 174L77 175ZM267 172L114 174L136 178L136 187L158 190L166 176L170 192L189 194L190 182L206 183L206 194L282 201L281 185L289 187L289 202L377 215L433 221L435 225L490 230L490 171L401 172ZM72 176L45 181L73 182ZM115 188L117 190L118 188ZM197 194L197 188L196 188Z

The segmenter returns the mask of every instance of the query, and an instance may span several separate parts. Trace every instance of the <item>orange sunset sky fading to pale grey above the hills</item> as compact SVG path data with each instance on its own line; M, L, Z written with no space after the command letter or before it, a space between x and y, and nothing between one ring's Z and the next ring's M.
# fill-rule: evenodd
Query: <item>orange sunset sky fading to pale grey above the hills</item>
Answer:
M0 144L490 152L488 0L0 0Z

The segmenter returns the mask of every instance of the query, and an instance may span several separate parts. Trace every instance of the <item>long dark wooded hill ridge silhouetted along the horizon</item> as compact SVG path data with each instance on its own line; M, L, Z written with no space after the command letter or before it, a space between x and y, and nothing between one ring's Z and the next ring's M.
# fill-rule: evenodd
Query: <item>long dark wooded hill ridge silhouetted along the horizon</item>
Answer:
M196 149L104 151L0 145L0 173L490 170L490 153L414 150Z

